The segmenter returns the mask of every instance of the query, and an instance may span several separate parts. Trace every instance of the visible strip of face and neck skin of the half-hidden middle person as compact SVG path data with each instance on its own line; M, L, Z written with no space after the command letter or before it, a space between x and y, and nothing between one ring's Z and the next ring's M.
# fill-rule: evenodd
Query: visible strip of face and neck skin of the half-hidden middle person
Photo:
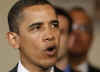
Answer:
M68 41L68 20L65 16L58 15L60 28L60 48L58 50L58 60L56 66L64 70L67 66L67 41Z

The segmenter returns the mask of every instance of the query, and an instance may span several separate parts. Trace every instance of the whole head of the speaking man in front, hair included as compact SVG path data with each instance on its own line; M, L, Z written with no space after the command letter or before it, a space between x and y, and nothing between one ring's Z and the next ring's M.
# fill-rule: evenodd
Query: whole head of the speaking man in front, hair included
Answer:
M22 63L48 68L56 62L59 30L54 8L46 0L20 0L8 14L8 41Z

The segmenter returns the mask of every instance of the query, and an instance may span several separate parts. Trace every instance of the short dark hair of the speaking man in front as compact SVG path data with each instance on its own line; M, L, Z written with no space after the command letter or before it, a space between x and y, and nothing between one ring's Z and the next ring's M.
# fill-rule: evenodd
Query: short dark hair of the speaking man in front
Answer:
M51 3L49 3L47 0L19 0L17 1L12 8L10 9L8 13L8 25L10 32L16 32L19 33L18 28L18 19L20 18L20 14L22 10L25 7L29 7L32 5L43 5L43 4L49 4L52 6ZM53 7L53 6L52 6Z

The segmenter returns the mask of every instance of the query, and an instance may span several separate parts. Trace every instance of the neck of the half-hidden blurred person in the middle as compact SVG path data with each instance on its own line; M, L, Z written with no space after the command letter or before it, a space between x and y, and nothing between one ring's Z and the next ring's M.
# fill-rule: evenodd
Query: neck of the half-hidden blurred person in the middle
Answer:
M67 64L68 64L67 57L63 57L61 60L57 61L56 67L63 71L67 67Z

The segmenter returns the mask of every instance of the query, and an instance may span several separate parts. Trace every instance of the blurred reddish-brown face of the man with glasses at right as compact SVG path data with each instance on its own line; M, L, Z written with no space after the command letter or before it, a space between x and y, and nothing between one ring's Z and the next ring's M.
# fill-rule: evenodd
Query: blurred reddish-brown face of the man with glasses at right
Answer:
M88 31L88 16L84 12L72 12L72 32L69 39L68 52L73 56L85 56L92 42L92 34Z

